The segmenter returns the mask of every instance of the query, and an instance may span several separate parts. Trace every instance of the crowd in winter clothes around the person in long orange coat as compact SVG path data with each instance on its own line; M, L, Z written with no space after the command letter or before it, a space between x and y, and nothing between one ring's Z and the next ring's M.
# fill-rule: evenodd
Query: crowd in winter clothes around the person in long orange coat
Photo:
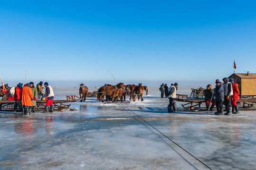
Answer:
M36 87L33 82L27 83L24 86L22 83L19 83L16 87L11 87L9 89L8 100L15 101L14 111L21 112L21 114L29 114L31 109L32 112L35 112L38 95L41 95L42 100L46 100L45 111L43 112L49 112L49 106L50 112L53 112L53 89L47 82L44 83L44 86L45 92L43 92L44 87L42 81Z

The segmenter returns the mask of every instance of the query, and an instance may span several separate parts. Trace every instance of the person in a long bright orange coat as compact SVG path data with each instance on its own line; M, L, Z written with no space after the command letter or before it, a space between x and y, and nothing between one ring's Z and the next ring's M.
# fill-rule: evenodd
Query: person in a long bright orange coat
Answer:
M22 103L22 114L29 114L29 106L33 105L32 90L30 88L29 83L21 89L21 103Z

